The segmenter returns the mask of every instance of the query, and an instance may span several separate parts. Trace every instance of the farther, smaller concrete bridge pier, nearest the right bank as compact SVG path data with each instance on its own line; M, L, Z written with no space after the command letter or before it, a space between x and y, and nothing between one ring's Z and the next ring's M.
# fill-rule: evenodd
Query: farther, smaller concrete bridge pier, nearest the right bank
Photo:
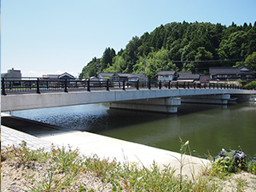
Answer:
M230 95L202 95L202 96L183 96L181 102L207 103L227 105Z

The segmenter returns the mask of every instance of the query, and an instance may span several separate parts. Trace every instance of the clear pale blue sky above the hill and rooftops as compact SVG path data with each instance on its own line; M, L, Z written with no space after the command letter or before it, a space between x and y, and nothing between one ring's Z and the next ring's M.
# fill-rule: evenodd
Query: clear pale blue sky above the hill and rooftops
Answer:
M2 0L1 73L78 76L106 48L125 49L161 24L254 24L255 10L255 0Z

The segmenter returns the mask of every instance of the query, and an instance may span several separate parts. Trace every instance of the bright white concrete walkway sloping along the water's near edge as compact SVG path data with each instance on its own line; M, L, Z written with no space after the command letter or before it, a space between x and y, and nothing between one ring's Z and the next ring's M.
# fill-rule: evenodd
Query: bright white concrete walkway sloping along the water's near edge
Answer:
M25 141L32 149L45 148L49 150L51 144L59 147L79 148L79 152L85 156L96 154L100 158L115 158L119 162L136 162L138 165L149 167L155 162L160 168L170 165L179 173L181 154L148 147L143 144L126 142L123 140L105 137L90 132L82 131L55 131L50 134L40 134L38 137L15 131L6 126L1 126L1 143L3 146L19 146ZM183 155L183 174L196 175L202 166L209 166L210 161L201 158Z

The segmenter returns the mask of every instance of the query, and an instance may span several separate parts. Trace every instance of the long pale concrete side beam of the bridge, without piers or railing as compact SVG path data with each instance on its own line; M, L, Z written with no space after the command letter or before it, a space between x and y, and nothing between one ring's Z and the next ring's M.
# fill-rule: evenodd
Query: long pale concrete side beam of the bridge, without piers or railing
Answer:
M99 102L120 102L127 100L201 96L201 95L256 95L256 90L226 89L140 89L140 90L91 90L15 94L1 96L2 111L25 110L32 108L53 108L69 105L90 104Z

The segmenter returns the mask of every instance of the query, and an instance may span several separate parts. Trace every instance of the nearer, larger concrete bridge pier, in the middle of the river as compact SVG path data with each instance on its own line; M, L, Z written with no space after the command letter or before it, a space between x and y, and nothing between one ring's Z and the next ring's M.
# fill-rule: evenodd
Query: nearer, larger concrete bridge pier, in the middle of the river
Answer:
M177 113L177 106L179 105L181 105L181 99L179 97L110 102L110 108L122 108L159 113Z

